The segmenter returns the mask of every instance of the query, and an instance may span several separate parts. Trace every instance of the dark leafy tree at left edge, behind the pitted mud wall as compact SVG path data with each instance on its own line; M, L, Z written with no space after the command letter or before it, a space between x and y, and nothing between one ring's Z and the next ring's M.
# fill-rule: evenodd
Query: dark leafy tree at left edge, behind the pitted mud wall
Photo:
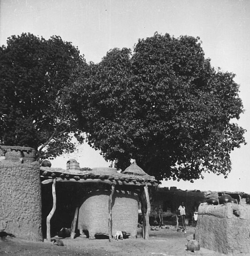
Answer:
M0 143L34 147L40 159L73 151L77 123L61 98L85 66L58 36L8 38L0 47Z

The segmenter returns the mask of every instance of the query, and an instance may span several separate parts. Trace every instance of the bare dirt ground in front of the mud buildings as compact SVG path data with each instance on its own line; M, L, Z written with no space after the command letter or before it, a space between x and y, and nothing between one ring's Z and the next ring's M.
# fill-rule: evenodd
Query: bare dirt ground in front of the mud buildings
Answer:
M167 228L166 228L167 227ZM158 231L150 231L148 241L137 239L89 240L77 237L62 239L64 246L46 242L28 242L18 238L0 239L0 256L223 256L224 254L201 248L197 252L186 250L187 237L195 228L188 227L186 234L174 226L164 226Z

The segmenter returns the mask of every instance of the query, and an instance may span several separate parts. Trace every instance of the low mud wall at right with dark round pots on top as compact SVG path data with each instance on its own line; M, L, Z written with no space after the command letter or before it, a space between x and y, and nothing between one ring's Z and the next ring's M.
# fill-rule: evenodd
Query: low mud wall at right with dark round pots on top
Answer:
M229 255L249 255L250 205L201 204L195 239L201 247L209 250Z

